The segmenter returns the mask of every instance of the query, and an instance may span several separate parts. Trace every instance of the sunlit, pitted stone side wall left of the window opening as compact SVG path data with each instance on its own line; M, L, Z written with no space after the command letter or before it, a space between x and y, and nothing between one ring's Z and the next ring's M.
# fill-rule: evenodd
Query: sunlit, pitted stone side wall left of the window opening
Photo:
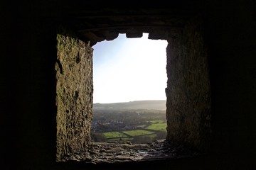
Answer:
M92 48L76 38L57 35L57 161L90 145L92 119Z

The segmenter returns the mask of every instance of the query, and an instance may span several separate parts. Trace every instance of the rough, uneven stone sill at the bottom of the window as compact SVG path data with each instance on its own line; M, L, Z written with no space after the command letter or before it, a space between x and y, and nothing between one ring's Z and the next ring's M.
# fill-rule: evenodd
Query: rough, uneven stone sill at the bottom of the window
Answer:
M149 144L132 145L129 143L95 142L85 151L63 157L61 161L78 161L92 164L117 162L143 162L161 159L180 159L201 155L182 145L174 145L165 140L156 140Z

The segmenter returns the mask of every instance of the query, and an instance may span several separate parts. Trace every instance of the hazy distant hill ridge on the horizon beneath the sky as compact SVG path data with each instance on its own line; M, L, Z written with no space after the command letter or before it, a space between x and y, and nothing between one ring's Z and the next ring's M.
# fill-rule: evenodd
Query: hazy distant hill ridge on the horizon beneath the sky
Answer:
M129 101L124 103L94 103L93 110L166 110L165 100Z

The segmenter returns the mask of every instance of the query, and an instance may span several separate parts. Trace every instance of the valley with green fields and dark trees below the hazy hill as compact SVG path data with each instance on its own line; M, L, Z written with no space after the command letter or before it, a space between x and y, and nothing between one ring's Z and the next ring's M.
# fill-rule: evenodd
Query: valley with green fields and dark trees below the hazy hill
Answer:
M92 140L95 142L147 143L167 135L166 113L157 110L97 110Z

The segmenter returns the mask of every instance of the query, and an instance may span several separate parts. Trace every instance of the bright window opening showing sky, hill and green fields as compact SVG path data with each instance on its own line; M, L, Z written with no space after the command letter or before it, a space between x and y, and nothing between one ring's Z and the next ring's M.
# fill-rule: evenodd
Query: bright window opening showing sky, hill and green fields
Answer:
M138 144L164 140L167 42L149 40L147 33L132 40L122 34L113 41L93 46L92 141ZM135 130L137 134L132 133Z

